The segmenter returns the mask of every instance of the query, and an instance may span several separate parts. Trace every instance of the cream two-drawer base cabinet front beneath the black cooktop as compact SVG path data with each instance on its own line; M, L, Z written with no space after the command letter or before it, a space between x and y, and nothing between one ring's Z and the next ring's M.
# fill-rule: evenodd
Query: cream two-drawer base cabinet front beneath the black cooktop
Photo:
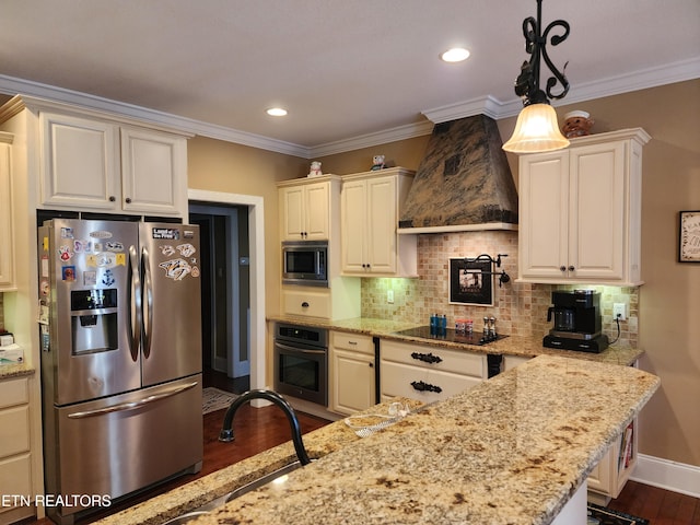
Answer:
M488 377L486 354L382 339L380 355L382 400L442 400Z

